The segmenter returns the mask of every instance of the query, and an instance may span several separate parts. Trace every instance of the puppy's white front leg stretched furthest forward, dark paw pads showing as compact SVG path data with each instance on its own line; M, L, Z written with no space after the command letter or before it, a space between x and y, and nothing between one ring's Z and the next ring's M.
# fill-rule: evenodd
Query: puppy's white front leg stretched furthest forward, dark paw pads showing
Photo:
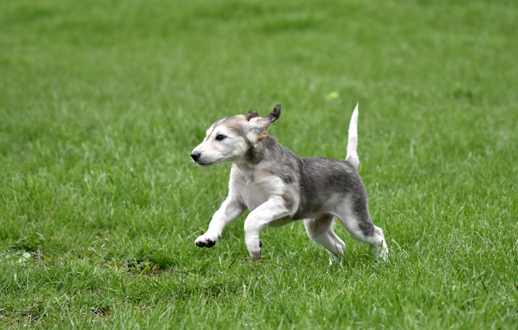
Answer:
M216 211L209 223L209 229L195 241L196 246L211 248L218 241L229 223L238 219L243 214L246 206L232 196L228 196L222 203L220 209Z

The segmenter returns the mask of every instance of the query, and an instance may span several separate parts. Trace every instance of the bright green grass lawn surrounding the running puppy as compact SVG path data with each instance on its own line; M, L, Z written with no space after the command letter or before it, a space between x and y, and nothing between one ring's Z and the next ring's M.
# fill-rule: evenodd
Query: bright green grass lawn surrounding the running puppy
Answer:
M514 329L515 1L2 1L0 327ZM331 95L332 97L327 97ZM336 97L334 97L336 96ZM194 240L229 165L204 125L277 102L270 134L360 174L387 263L336 226L242 219Z

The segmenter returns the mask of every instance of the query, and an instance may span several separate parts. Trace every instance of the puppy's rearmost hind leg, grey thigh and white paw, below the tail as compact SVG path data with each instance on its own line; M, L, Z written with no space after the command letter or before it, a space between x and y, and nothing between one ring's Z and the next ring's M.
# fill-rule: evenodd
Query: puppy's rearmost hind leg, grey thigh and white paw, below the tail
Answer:
M376 257L387 259L388 248L383 230L374 226L367 209L367 199L346 199L336 208L336 217L351 236L362 243L371 244Z

